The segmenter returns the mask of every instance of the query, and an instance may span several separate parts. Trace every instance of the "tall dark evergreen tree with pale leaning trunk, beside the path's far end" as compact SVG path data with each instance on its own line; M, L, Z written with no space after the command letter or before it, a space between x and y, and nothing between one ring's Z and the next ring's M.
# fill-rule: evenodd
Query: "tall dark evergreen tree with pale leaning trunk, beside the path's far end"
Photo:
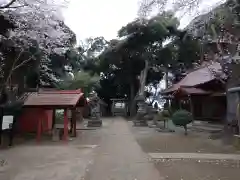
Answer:
M177 63L178 48L175 46L182 45L180 42L186 36L185 32L177 30L178 24L172 12L137 19L121 28L121 39L110 41L109 48L99 56L99 72L104 74L102 80L115 79L116 87L112 88L127 97L133 107L137 92L145 97L146 85L157 84L166 67ZM175 44L163 46L168 38Z

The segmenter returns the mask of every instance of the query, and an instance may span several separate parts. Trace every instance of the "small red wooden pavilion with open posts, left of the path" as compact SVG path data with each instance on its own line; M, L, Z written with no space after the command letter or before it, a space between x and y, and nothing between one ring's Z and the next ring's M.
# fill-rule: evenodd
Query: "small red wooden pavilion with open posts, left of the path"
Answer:
M79 90L41 91L30 93L24 102L24 112L19 118L19 129L24 132L37 132L40 141L44 131L51 131L55 124L55 110L64 109L64 135L68 138L68 110L75 110L84 101L83 93ZM76 113L72 114L73 131L76 133Z

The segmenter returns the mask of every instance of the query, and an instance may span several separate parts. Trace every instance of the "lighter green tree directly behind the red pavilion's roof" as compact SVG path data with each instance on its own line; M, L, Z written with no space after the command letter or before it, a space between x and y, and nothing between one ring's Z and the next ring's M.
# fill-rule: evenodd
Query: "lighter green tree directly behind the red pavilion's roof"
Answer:
M100 76L96 74L97 57L107 44L103 37L88 38L80 46L66 51L65 57L62 58L63 64L59 63L59 57L56 58L52 65L58 66L58 74L62 79L56 84L57 87L60 89L82 88L86 96L92 90L99 89ZM63 65L65 69L62 69Z

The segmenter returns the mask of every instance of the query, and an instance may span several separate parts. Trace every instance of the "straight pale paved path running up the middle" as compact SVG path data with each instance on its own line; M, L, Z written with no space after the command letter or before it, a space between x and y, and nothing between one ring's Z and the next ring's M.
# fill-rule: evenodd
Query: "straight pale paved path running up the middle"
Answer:
M96 149L87 180L162 180L149 157L137 144L129 125L115 118L103 129L103 140Z

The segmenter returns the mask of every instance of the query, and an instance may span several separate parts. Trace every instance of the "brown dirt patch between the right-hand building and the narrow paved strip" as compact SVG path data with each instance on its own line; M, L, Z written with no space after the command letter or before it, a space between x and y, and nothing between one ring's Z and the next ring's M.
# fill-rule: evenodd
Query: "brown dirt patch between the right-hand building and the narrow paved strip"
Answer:
M221 140L209 139L206 133L189 132L185 136L183 132L163 133L148 127L132 127L132 132L146 153L239 153Z

